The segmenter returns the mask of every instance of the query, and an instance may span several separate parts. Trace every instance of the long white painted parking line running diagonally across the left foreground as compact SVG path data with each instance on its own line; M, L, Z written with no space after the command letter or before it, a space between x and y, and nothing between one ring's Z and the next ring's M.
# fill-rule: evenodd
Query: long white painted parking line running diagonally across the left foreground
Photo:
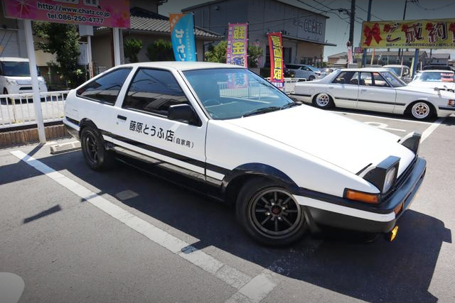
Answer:
M10 153L23 162L26 162L31 167L34 167L36 170L42 172L44 175L50 177L50 179L58 184L69 189L80 198L93 206L96 206L98 209L101 209L106 214L109 214L112 218L121 221L126 226L129 226L129 228L141 233L159 246L179 255L193 265L198 266L198 268L209 272L218 279L239 290L237 293L250 298L250 300L252 300L250 302L259 302L259 298L262 299L267 296L279 282L277 280L277 275L270 270L264 270L256 277L251 277L240 270L225 265L211 255L186 243L186 241L172 236L170 233L154 226L148 221L140 219L138 216L122 209L122 207L109 202L107 199L95 194L95 192L83 187L81 184L71 180L60 172L53 170L53 168L48 167L48 165L45 165L43 162L23 153L21 150L14 150Z

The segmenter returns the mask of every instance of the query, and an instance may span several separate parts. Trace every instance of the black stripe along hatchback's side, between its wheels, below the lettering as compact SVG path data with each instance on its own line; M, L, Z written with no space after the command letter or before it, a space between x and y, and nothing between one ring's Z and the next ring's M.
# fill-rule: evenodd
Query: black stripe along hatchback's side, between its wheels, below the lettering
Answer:
M111 138L114 138L115 140L122 141L124 143L128 143L130 145L134 145L134 146L137 146L138 148L142 148L144 150L149 150L149 151L154 152L154 153L159 153L160 155L165 155L166 157L173 158L175 160L179 160L179 161L182 161L182 162L186 162L186 163L191 164L191 165L195 165L195 166L198 166L198 167L201 167L201 168L207 168L208 170L213 170L214 172L218 172L218 173L223 174L223 175L227 175L228 172L230 172L230 170L228 170L228 169L226 169L224 167L219 167L219 166L216 166L216 165L205 163L203 161L196 160L196 159L193 159L193 158L189 158L189 157L186 157L184 155L180 155L178 153L172 153L172 152L170 152L168 150L164 150L164 149L161 149L161 148L156 148L156 147L154 147L152 145L148 145L148 144L145 144L145 143L134 141L134 140L129 139L129 138L124 138L122 136L115 135L114 133L110 133L109 131L101 131L101 132L102 132L103 135L109 136Z

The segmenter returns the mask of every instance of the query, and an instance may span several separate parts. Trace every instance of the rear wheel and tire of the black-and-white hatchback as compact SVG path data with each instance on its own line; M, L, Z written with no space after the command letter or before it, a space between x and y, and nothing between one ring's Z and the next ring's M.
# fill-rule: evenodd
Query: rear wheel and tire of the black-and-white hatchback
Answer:
M92 126L85 126L80 133L82 154L92 170L105 170L112 167L114 154L106 150L100 131Z

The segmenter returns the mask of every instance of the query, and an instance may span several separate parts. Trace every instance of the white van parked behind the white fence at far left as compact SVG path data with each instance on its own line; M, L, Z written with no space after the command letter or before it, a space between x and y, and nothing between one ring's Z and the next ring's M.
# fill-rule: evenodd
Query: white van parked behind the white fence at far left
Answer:
M47 92L45 79L38 74L40 92ZM31 93L31 76L28 59L0 57L0 94Z

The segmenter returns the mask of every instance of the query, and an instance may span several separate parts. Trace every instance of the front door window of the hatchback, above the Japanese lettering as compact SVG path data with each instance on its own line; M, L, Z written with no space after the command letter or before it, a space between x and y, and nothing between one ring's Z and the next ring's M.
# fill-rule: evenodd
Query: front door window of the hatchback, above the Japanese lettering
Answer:
M167 117L173 104L188 104L188 99L171 72L141 68L132 79L122 107Z

